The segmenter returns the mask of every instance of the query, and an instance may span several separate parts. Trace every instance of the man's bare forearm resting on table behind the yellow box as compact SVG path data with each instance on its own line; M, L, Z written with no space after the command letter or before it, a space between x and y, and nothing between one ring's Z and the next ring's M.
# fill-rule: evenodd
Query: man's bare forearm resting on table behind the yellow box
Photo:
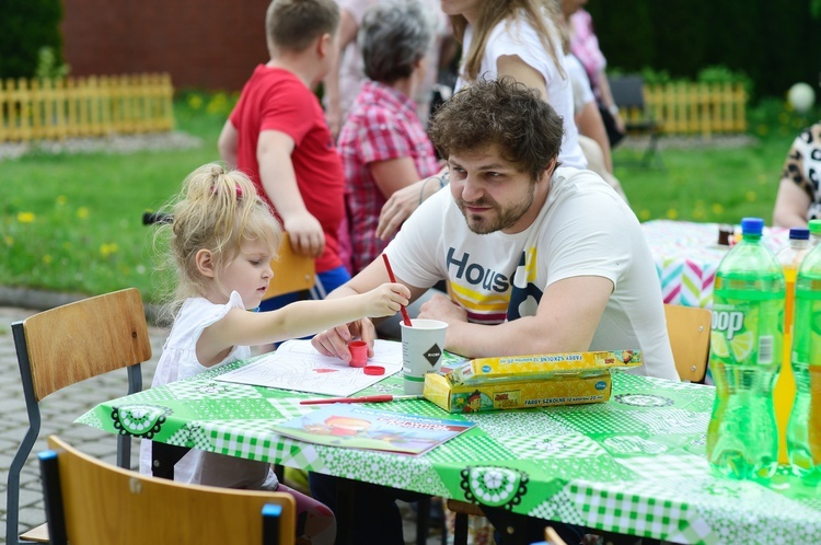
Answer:
M535 316L498 325L471 324L461 306L439 297L421 306L419 317L448 322L446 349L467 358L583 352L612 291L608 278L579 276L548 286Z

